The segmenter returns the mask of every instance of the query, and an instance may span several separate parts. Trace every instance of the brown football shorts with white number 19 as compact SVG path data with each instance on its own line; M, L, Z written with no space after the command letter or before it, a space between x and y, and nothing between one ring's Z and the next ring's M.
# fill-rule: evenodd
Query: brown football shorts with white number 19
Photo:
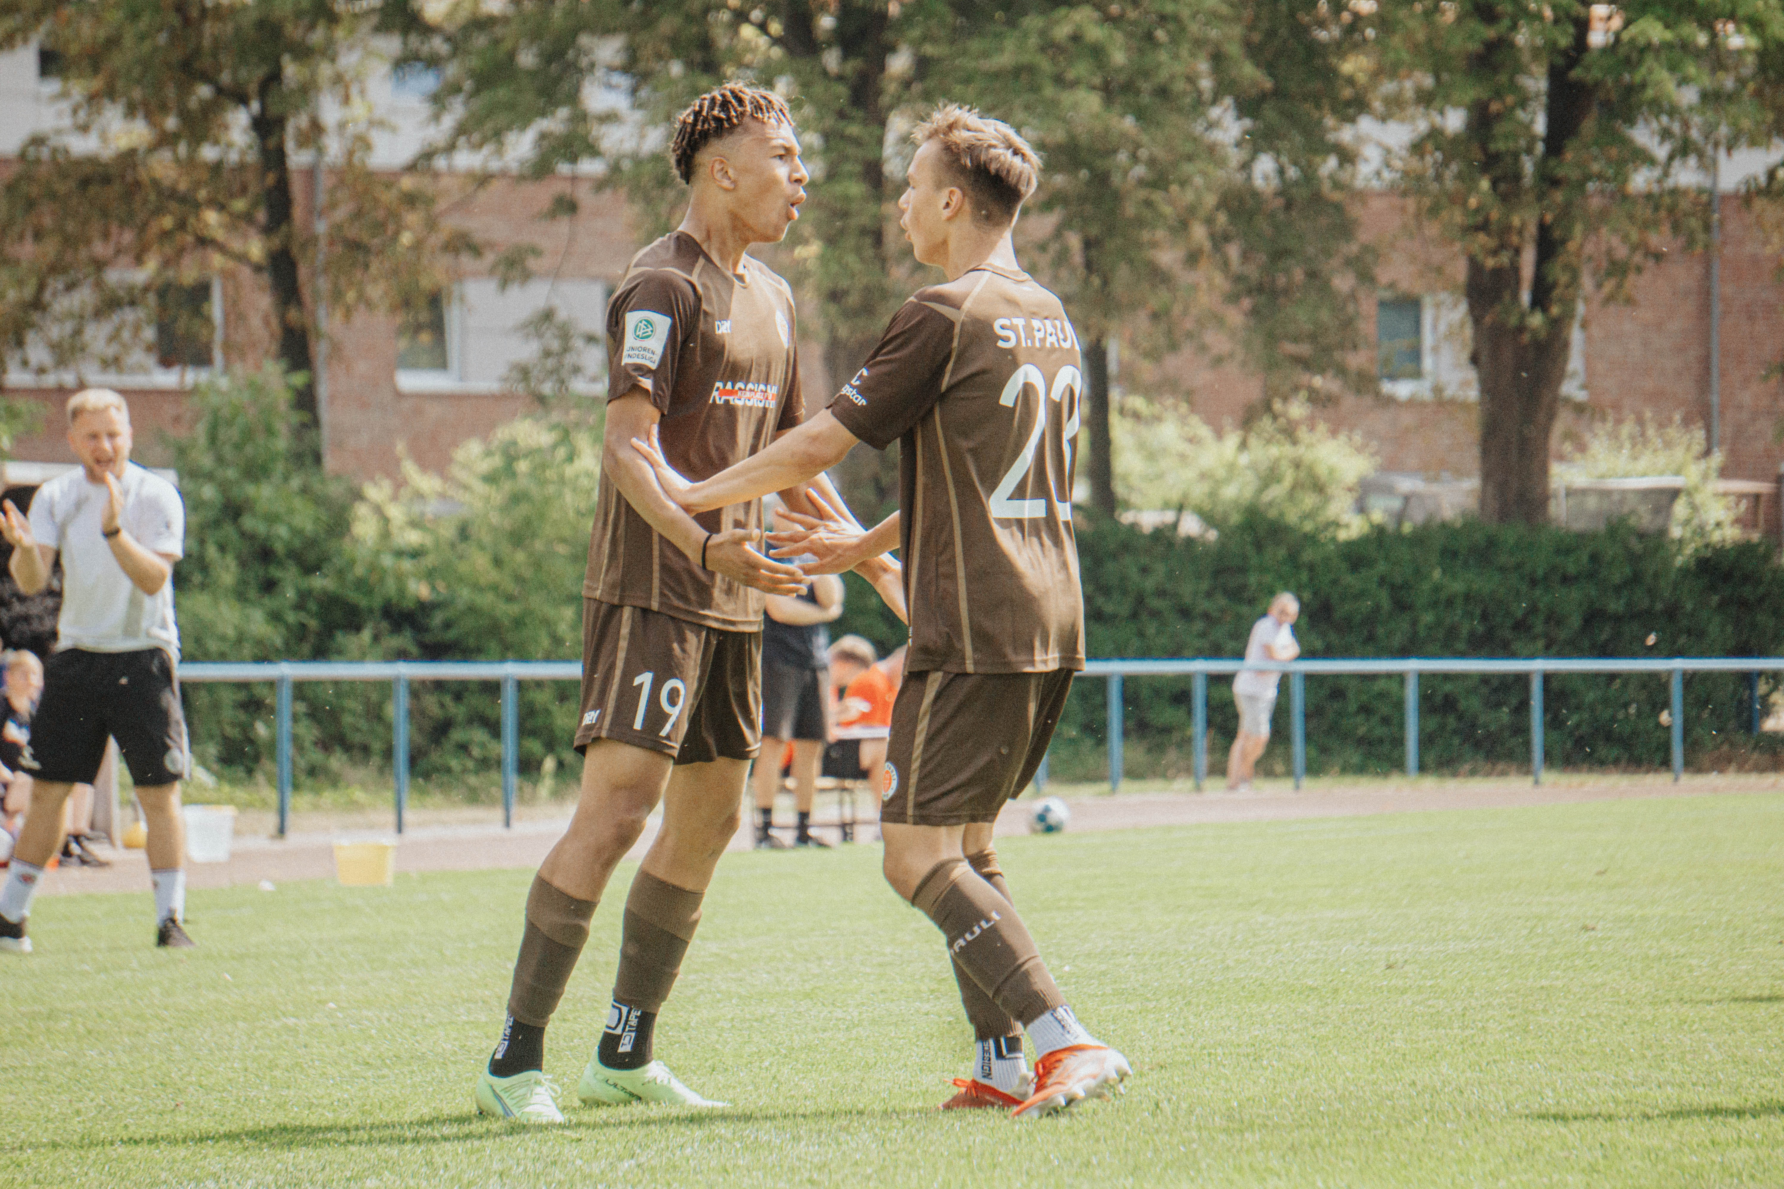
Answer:
M619 740L678 765L762 750L762 633L582 601L576 750Z

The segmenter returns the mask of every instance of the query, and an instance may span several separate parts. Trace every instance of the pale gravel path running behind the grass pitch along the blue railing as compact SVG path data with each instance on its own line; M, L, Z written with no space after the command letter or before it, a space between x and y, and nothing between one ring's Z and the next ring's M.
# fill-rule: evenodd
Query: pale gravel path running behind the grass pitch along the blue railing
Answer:
M1388 779L1388 781L1318 781L1308 791L1293 791L1283 781L1265 784L1252 793L1224 791L1133 791L1119 795L1070 795L1072 831L1145 829L1151 825L1206 825L1218 822L1276 822L1290 818L1359 816L1372 813L1422 813L1434 809L1488 809L1511 806L1545 806L1582 800L1620 800L1631 797L1700 797L1711 793L1784 793L1784 775L1689 775L1673 784L1668 775L1557 775L1541 786L1529 779ZM865 800L865 799L863 799ZM828 799L821 800L821 818L833 820ZM1013 802L997 820L999 834L1020 834L1028 829L1028 809L1033 800ZM425 820L426 815L417 815ZM439 815L446 816L446 815ZM398 872L462 872L501 866L537 866L562 834L564 816L519 820L514 829L500 822L437 822L419 824L407 831L396 849ZM257 818L243 815L243 829L252 829ZM301 825L301 822L300 822ZM326 818L321 825L330 825ZM264 829L264 825L259 825ZM633 847L630 857L640 857L657 834L657 820ZM824 831L835 838L833 827ZM334 841L362 840L389 832L364 829L364 822L334 822L332 829L293 832L285 840L237 836L228 863L196 863L189 868L189 886L227 888L269 881L330 879L334 875ZM860 831L862 841L876 838L874 825ZM751 825L731 840L731 850L747 850ZM148 861L141 850L105 852L109 868L55 870L43 886L43 895L70 895L95 891L146 891Z

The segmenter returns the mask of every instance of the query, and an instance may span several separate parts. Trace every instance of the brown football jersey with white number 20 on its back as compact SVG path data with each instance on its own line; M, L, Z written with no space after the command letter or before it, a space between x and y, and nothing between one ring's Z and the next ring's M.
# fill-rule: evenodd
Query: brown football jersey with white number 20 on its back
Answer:
M1072 535L1078 335L1028 273L917 291L830 412L899 442L906 672L1085 667Z

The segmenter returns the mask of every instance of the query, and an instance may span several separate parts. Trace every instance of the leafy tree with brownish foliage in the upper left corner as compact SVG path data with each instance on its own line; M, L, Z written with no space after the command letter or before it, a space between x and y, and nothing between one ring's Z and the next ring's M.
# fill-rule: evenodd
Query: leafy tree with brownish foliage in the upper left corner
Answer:
M325 100L364 105L382 5L335 0L16 0L0 48L39 39L61 62L62 134L36 135L0 185L0 349L54 369L143 349L137 316L169 285L239 267L273 314L293 408L316 422L293 153L330 134L328 301L396 307L471 242L434 221L432 191L369 164L368 130L325 130ZM400 251L392 251L392 244ZM187 310L191 321L203 314ZM209 326L187 326L202 340ZM314 442L309 444L314 456Z

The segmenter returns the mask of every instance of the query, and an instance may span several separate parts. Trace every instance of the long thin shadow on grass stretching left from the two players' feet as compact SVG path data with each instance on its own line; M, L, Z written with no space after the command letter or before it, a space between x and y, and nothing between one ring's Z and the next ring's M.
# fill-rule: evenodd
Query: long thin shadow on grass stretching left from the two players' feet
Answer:
M576 1112L564 1127L537 1127L512 1119L489 1119L478 1114L432 1114L419 1119L392 1119L389 1123L275 1123L269 1127L243 1127L221 1132L193 1132L184 1136L93 1136L87 1139L0 1144L0 1152L27 1155L37 1152L87 1152L98 1148L202 1148L212 1144L248 1144L269 1150L293 1148L385 1148L394 1144L460 1144L500 1136L582 1136L599 1134L614 1127L721 1127L724 1123L760 1123L765 1119L892 1119L933 1114L933 1109L869 1109L833 1107L828 1111L687 1111L674 1114L642 1111L587 1111Z

